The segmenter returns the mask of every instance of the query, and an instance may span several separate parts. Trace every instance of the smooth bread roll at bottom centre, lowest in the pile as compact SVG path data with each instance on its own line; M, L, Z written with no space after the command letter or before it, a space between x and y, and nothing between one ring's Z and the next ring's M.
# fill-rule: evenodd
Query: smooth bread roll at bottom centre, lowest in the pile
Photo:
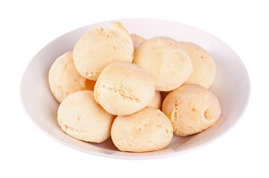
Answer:
M172 140L173 128L159 109L145 107L131 115L117 116L111 138L123 152L150 152L164 149Z

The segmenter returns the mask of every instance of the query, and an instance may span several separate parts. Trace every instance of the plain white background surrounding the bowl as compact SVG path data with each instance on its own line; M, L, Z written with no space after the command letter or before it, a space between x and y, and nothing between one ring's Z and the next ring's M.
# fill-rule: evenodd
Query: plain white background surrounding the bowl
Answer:
M0 177L268 177L268 7L262 1L1 1ZM251 79L249 106L238 124L199 150L140 161L85 154L36 128L19 98L31 58L72 29L119 18L185 23L233 48Z

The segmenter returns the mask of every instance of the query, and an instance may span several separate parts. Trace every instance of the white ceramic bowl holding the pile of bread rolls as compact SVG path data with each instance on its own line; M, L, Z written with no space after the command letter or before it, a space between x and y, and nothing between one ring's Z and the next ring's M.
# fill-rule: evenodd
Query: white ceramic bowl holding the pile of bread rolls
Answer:
M193 42L205 48L217 65L216 79L210 90L218 97L222 115L213 127L195 135L174 136L164 150L147 153L120 152L111 138L103 143L76 140L65 134L57 123L59 103L52 96L48 85L48 71L58 56L72 50L86 31L94 26L108 27L110 21L84 26L71 31L47 44L29 63L21 79L21 102L31 120L51 138L76 150L110 158L153 159L179 155L195 150L220 138L231 129L244 113L250 96L250 80L238 55L218 38L192 26L156 19L120 19L129 33L146 39L167 36L177 41Z

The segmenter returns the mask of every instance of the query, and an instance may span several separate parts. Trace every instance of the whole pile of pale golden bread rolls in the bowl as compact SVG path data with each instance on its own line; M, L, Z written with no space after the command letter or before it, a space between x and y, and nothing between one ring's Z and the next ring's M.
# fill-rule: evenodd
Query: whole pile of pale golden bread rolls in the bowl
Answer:
M94 27L57 58L49 86L61 103L58 123L73 138L120 151L164 149L173 134L214 125L218 99L208 88L216 66L202 47L168 37L144 39L120 22ZM162 109L162 110L160 110Z

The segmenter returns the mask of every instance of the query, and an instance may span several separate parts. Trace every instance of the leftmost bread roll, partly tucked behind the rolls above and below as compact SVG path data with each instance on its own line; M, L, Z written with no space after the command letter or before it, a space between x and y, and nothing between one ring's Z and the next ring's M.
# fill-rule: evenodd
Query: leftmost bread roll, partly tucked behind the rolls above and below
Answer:
M69 94L94 89L95 81L81 76L73 62L72 51L57 58L48 73L48 82L52 94L61 103Z

